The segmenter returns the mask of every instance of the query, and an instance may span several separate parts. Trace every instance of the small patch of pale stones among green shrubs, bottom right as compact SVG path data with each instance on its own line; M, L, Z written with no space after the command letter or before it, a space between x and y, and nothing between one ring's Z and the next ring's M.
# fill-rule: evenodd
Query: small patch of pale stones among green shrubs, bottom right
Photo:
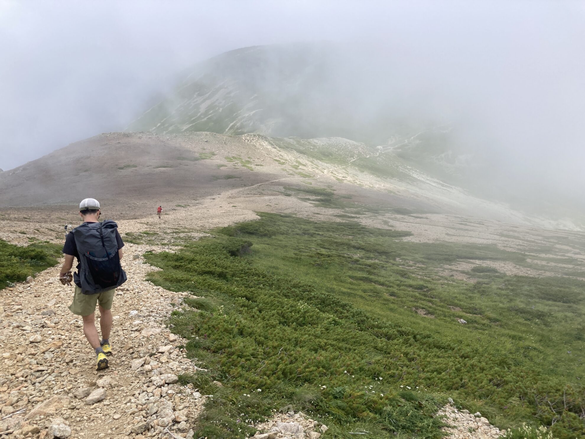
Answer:
M457 410L451 404L439 410L437 416L445 416L445 423L450 427L444 427L443 430L450 433L451 439L497 439L505 433L505 430L491 425L481 413Z

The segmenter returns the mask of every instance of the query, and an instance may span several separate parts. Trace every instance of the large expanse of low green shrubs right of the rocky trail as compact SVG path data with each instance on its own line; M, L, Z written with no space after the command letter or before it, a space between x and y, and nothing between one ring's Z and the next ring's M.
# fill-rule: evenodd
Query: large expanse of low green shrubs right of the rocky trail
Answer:
M197 437L243 438L250 421L292 407L328 425L325 437L439 438L432 415L448 397L511 438L541 425L585 435L580 280L484 267L481 282L460 282L436 267L525 255L357 222L260 214L215 234L146 255L163 269L154 283L205 298L170 321L209 371L181 376L214 395Z

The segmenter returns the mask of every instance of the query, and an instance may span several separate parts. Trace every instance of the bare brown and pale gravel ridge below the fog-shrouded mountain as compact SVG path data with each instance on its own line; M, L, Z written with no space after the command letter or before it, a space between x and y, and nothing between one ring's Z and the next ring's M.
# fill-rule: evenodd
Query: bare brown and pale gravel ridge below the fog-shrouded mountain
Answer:
M416 136L395 139L408 145ZM104 200L116 212L191 204L234 188L263 185L333 189L355 203L419 213L469 215L539 227L576 229L570 221L528 217L424 172L392 150L343 138L267 138L194 132L107 133L73 143L0 173L0 208ZM309 191L309 192L311 192ZM305 190L294 191L300 194ZM288 196L291 193L289 191ZM238 197L245 197L245 192ZM289 199L290 200L290 199ZM306 200L305 200L306 201ZM339 200L343 208L343 198ZM301 203L302 204L302 203ZM299 205L295 211L302 212Z

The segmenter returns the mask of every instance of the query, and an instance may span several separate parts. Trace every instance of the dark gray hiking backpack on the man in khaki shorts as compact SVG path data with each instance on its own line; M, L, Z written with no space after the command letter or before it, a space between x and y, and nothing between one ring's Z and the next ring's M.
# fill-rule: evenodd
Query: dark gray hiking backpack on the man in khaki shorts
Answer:
M117 228L118 224L106 219L81 224L71 232L80 259L79 273L74 274L73 280L83 294L101 293L126 282L118 255Z

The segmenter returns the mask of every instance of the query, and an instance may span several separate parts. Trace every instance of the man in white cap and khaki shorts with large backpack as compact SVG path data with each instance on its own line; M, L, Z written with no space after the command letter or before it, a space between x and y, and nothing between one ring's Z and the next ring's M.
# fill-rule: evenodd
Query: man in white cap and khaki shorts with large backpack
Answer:
M97 370L108 368L106 355L112 353L109 335L112 330L112 301L116 287L126 282L122 270L122 247L118 225L111 219L99 222L101 211L98 200L85 198L79 205L83 224L74 228L65 239L65 262L59 273L63 285L75 283L73 303L69 310L83 319L85 338L95 349ZM77 272L72 276L73 258L77 258ZM102 341L95 328L95 306L99 307L99 327Z

